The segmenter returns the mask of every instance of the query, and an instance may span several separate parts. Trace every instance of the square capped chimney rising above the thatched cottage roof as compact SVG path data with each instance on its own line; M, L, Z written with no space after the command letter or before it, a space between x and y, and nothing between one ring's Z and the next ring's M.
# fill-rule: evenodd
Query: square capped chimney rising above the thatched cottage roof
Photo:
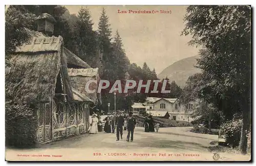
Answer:
M56 20L54 17L50 14L44 13L40 14L36 18L37 22L37 31L42 32L47 36L52 36L54 31L54 24L56 23Z

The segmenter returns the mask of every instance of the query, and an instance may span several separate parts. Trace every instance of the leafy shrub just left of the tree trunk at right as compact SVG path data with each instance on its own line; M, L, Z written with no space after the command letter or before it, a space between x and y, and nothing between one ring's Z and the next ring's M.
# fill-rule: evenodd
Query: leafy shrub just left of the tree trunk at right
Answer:
M241 136L242 120L227 121L221 125L221 135L226 139L226 143L232 147L239 146Z

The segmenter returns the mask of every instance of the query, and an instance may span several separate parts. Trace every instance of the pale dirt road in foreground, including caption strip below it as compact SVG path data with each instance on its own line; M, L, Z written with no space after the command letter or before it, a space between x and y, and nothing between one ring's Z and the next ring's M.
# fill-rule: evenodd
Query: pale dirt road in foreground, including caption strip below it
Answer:
M58 142L41 145L36 149L6 150L6 159L17 160L213 160L207 147L217 140L215 135L197 134L189 128L161 128L158 133L145 133L136 128L134 141L116 141L116 134L99 132L83 134ZM29 155L29 156L17 156ZM42 155L42 156L33 156ZM47 155L47 156L43 156ZM54 156L55 155L55 156ZM226 156L225 156L226 157ZM232 160L228 156L225 160ZM236 157L235 159L244 159ZM221 160L221 159L219 159Z

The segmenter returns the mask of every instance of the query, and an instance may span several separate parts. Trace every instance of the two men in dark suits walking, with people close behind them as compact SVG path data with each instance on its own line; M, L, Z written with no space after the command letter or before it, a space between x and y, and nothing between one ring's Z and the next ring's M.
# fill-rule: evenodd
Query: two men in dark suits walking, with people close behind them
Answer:
M104 131L106 133L115 133L116 129L116 140L118 141L120 138L122 139L123 130L127 129L127 137L126 141L133 141L133 134L136 125L136 119L133 117L133 112L129 113L129 116L125 114L121 114L119 110L116 111L115 115L108 115L103 120L105 122Z

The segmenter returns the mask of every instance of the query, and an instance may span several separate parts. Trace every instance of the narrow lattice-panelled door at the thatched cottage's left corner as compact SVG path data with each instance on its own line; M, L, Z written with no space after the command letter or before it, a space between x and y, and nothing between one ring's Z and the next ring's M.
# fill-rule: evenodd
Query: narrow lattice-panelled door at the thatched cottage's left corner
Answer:
M37 109L37 141L38 143L44 143L51 140L51 104L39 104Z

